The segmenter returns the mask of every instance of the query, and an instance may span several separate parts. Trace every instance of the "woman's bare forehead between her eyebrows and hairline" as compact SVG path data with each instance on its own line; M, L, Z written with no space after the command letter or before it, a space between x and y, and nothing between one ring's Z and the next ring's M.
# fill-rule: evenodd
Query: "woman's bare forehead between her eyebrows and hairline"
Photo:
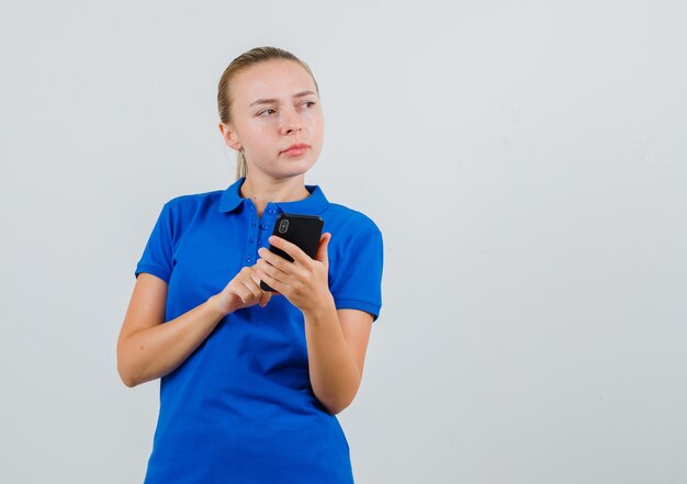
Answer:
M258 99L288 100L297 92L316 92L315 82L299 63L267 60L237 74L232 81L232 93L237 104L247 106Z

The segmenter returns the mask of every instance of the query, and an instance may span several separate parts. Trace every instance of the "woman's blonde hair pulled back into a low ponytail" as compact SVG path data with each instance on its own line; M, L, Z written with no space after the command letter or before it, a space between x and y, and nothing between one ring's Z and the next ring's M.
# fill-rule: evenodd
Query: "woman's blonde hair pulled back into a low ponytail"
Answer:
M313 82L315 82L315 90L319 93L317 81L315 80L315 76L313 76L309 66L290 52L269 46L251 48L232 60L219 78L219 86L217 87L217 108L219 110L219 120L223 123L228 124L232 121L233 98L229 83L234 76L251 66L255 66L256 64L273 59L293 60L299 63L307 71L307 74L311 75ZM236 158L236 179L238 180L239 178L245 177L247 172L248 165L246 164L246 156L241 149L238 151Z

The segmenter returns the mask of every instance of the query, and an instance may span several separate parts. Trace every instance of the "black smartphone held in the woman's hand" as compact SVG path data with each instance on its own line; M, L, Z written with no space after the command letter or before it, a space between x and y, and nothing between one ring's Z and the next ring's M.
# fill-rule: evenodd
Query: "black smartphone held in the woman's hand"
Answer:
M317 255L317 246L322 237L322 227L325 222L316 215L300 215L295 213L282 213L274 222L272 235L295 244L312 259ZM291 256L270 244L270 251L293 262ZM262 291L274 291L264 281L260 281Z

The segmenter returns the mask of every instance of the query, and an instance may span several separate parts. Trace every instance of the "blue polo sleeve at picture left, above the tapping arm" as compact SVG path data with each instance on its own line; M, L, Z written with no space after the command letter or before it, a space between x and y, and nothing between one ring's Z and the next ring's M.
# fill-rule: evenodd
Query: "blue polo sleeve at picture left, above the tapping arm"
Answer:
M136 266L136 277L140 272L148 272L169 282L172 271L172 217L169 203L166 203Z

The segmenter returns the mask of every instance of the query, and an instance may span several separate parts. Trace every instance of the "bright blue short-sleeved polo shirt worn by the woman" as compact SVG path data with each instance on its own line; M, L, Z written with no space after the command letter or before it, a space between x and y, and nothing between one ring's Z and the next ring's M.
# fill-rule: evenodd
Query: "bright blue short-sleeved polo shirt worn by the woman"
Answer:
M376 319L383 263L376 225L329 203L316 185L306 185L304 200L269 203L259 218L251 200L240 196L244 180L164 205L135 274L168 283L165 320L204 303L255 264L282 212L324 220L337 308ZM284 296L227 315L160 379L146 484L352 482L346 436L311 385L303 314Z

